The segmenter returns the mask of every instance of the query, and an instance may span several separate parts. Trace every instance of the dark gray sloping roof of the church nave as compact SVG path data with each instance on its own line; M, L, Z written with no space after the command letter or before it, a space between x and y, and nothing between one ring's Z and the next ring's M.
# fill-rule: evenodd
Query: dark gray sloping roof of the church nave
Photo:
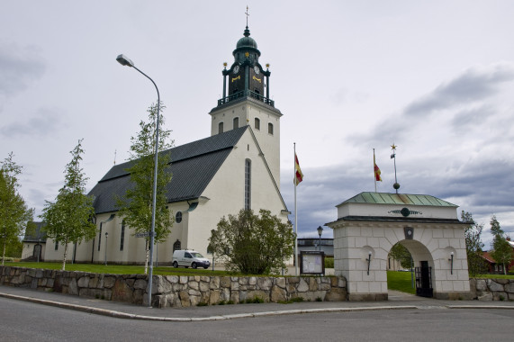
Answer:
M161 152L171 155L169 171L173 177L167 184L168 202L200 197L247 129L248 126L229 130ZM89 192L95 196L96 213L118 211L116 196L122 197L131 186L130 174L126 171L131 163L113 166Z

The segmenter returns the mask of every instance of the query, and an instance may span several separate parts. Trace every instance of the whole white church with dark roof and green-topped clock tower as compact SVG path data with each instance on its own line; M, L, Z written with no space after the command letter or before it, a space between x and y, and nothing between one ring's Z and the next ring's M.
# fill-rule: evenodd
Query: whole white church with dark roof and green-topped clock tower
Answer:
M232 53L233 64L222 70L223 96L209 113L211 137L163 152L171 160L167 200L175 223L167 240L154 249L159 265L170 265L176 249L194 249L211 257L207 253L211 230L223 216L241 209L266 209L288 220L290 212L280 193L282 113L269 98L270 72L259 64L257 42L249 35L247 27ZM125 171L129 164L113 166L89 193L95 197L98 232L93 240L70 245L69 260L145 262L145 238L135 237L124 225L115 201L131 186ZM62 248L49 239L44 260L60 260Z

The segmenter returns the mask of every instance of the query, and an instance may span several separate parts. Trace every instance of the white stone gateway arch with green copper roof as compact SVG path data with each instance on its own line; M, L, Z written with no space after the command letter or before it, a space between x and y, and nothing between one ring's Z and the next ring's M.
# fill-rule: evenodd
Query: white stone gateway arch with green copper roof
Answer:
M349 301L387 300L387 259L400 243L413 258L416 293L470 299L464 222L457 206L430 195L359 193L336 206L334 268Z

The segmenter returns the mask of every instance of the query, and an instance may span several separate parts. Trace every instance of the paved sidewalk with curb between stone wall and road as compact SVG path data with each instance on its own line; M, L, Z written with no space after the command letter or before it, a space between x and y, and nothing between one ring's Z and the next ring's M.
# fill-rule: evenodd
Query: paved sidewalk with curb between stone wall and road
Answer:
M439 301L408 293L389 292L387 302L295 302L291 304L262 303L212 305L192 308L154 309L123 302L103 301L60 293L0 286L0 297L64 309L131 320L234 320L270 315L293 315L319 312L414 310L414 309L507 309L514 302Z

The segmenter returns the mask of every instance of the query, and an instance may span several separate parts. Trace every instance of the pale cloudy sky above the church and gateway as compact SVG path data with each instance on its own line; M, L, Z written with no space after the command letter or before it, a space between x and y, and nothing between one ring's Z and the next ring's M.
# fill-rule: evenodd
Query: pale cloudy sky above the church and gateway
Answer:
M293 211L293 142L302 237L335 205L374 191L373 148L393 192L426 193L495 214L514 235L512 1L0 0L0 157L23 166L41 213L84 139L88 188L128 157L157 100L176 146L210 135L222 63L249 28L281 125L282 191ZM292 216L293 217L293 216ZM330 237L325 229L323 236ZM484 233L486 248L491 236Z

